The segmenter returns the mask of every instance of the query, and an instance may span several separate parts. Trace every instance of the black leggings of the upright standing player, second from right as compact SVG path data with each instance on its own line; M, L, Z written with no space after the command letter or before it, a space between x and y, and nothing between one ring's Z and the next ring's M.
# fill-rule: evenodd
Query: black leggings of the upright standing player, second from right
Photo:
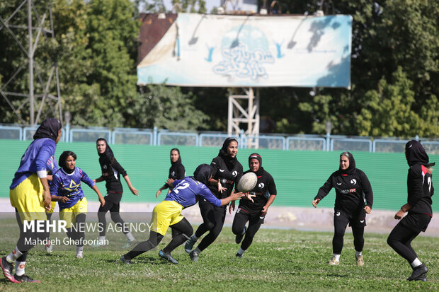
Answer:
M341 250L343 249L343 238L348 223L348 219L344 220L344 218L338 218L333 221L334 233L332 238L332 252L336 255L341 255ZM364 226L352 226L353 246L357 252L361 252L365 245L365 239L363 237L364 232Z

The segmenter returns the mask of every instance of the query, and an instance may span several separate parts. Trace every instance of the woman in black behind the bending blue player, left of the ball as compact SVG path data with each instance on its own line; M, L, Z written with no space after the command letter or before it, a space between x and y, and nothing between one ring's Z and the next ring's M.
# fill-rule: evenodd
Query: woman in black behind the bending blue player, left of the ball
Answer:
M209 181L210 185L207 187L209 187L212 194L218 199L229 197L234 185L236 185L236 182L238 182L242 176L242 165L236 159L236 153L238 153L238 141L234 138L227 138L224 144L222 144L218 156L213 158L212 163L210 163L210 166L213 168L213 176ZM194 235L189 238L185 245L186 252L189 252L190 259L194 262L198 261L200 252L211 245L218 235L220 235L222 226L224 225L224 219L226 218L227 208L227 206L215 206L206 199L200 199L198 206L200 206L203 224L198 227ZM230 205L230 208L234 208L234 205ZM192 250L198 238L206 232L209 232L209 234L201 240L195 250Z

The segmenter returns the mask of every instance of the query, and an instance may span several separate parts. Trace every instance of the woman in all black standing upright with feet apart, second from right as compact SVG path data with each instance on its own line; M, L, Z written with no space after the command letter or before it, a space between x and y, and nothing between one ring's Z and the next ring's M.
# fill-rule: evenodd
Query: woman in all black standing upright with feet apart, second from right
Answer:
M329 264L334 265L340 262L343 237L349 223L353 233L355 259L357 259L358 266L363 266L363 246L365 242L363 234L366 226L366 214L370 214L372 210L373 193L365 173L355 168L352 153L341 153L340 167L319 189L317 196L312 201L312 206L317 208L317 204L332 188L336 190L336 204L333 214L333 257Z

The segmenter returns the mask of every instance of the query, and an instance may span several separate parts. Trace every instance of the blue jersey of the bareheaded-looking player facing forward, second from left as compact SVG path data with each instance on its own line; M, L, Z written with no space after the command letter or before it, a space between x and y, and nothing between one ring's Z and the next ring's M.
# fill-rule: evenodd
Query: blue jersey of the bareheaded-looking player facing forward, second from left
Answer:
M50 185L50 195L69 198L69 201L65 203L58 202L59 210L70 208L84 198L81 182L85 182L89 187L96 185L81 168L75 168L73 173L66 173L61 168L55 173L52 185Z

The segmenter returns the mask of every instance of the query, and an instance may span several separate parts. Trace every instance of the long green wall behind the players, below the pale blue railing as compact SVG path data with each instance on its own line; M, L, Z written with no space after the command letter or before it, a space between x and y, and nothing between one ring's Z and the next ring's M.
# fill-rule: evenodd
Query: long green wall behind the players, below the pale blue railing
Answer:
M0 197L8 197L8 187L13 174L18 168L20 158L30 141L13 141L0 139ZM139 189L139 197L133 196L125 182L122 183L125 193L122 202L160 202L156 199L156 190L163 185L167 178L169 166L169 151L171 146L144 145L111 145L115 157L127 170L132 184ZM200 163L210 163L217 156L218 148L209 147L179 147L186 175L192 175ZM98 154L94 143L59 143L57 157L62 151L71 150L78 159L76 165L82 168L89 177L101 175ZM247 158L253 151L240 149L238 159L248 170ZM339 152L322 151L279 151L259 149L263 158L263 167L273 175L278 197L275 206L306 206L310 207L317 190L326 182L329 175L338 169ZM369 177L374 192L374 209L397 210L406 202L406 175L408 165L402 153L353 153L358 168ZM430 156L431 161L439 163L439 156ZM433 183L435 182L433 173ZM98 184L105 194L105 182ZM97 201L96 194L84 187L87 199ZM435 197L433 197L434 201ZM332 207L335 192L331 193L319 206ZM433 204L433 210L439 211L438 204Z

